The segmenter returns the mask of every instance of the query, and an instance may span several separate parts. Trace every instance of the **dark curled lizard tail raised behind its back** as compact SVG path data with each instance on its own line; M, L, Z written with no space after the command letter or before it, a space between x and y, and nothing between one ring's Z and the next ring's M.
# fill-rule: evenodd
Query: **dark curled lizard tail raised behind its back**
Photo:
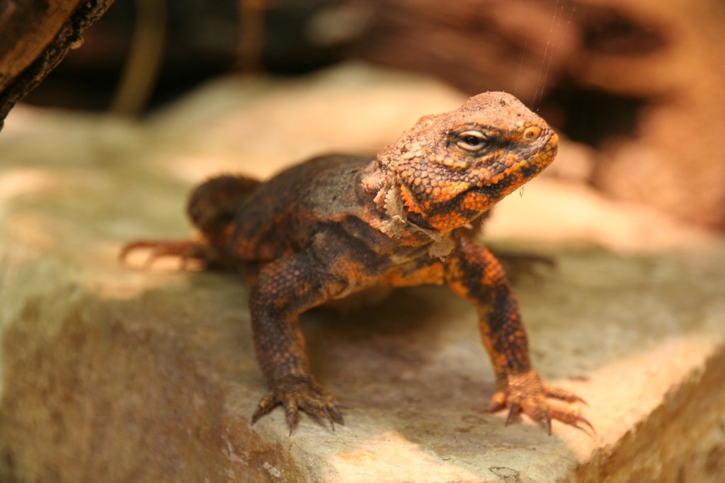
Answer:
M219 236L233 220L241 202L259 183L246 176L211 178L191 192L186 212L204 234Z

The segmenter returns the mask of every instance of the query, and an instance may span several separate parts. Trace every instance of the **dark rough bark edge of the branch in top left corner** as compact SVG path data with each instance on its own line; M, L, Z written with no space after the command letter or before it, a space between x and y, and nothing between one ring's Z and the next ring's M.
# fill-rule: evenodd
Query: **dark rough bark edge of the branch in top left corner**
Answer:
M113 0L84 1L75 9L75 12L63 24L53 41L43 49L38 58L30 62L9 86L0 92L0 131L2 131L5 117L12 107L57 67L72 46L83 38L81 35L83 30L96 22L112 3Z

